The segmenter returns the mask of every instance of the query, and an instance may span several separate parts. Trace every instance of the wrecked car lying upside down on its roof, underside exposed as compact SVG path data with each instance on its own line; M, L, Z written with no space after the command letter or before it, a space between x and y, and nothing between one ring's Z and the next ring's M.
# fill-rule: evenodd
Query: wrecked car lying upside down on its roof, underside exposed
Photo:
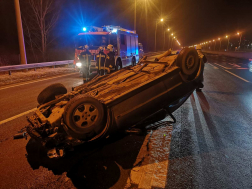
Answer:
M97 76L67 93L62 84L44 89L26 132L61 157L74 146L140 125L165 110L171 115L202 82L203 55L185 48L153 61Z

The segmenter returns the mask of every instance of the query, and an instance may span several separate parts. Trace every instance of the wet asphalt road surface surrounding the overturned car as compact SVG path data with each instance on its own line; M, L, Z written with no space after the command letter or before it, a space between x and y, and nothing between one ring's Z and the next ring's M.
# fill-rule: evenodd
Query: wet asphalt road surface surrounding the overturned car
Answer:
M204 89L194 92L174 113L177 123L172 126L169 153L162 160L167 162L164 187L252 188L252 73L245 69L248 61L215 55L207 58ZM72 75L0 89L0 121L35 108L38 93L58 82L71 90L81 78ZM49 160L40 155L32 140L12 138L27 124L25 116L30 114L0 125L0 188L124 188L148 140L145 133L119 134L102 144L79 147L64 159ZM151 184L146 188L151 187L158 188Z

